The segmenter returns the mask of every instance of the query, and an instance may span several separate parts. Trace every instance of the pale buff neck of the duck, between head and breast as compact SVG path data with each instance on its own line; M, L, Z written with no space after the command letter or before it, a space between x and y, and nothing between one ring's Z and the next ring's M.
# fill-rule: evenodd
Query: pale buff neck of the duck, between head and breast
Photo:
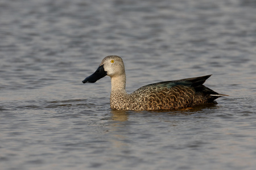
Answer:
M115 94L127 94L125 90L126 76L125 74L119 76L113 76L111 78L111 93Z

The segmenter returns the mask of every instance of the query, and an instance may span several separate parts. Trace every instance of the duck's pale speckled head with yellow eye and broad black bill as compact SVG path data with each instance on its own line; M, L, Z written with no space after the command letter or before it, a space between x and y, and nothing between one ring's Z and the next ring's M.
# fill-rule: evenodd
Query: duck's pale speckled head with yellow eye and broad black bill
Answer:
M119 56L107 56L102 59L98 69L90 76L86 77L82 83L95 83L98 79L108 75L111 78L125 74L125 65Z

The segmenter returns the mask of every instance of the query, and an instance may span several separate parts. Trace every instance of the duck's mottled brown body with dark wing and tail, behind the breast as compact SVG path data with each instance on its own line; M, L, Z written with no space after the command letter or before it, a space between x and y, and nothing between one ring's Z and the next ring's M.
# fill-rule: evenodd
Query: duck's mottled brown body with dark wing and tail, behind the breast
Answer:
M134 91L135 110L170 110L213 102L222 96L203 83L210 75L148 84Z

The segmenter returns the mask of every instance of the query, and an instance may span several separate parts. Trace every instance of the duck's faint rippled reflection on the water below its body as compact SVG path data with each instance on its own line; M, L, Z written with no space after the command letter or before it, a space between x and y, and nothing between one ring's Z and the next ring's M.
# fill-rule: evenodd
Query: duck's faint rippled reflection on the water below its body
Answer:
M173 128L179 126L179 124L184 124L185 116L196 114L196 118L200 120L201 118L208 117L207 114L212 114L218 106L216 104L205 104L199 105L193 108L182 109L179 111L114 111L111 110L111 116L109 117L109 135L110 141L113 143L115 148L122 148L129 150L132 143L134 142L133 134L136 134L138 137L144 134L137 134L137 124L143 120L147 121L147 124L154 124L159 121L159 126L166 126L166 128ZM138 117L138 120L134 120L135 117ZM148 119L147 119L148 117ZM154 118L152 118L154 117ZM180 118L181 117L181 118ZM194 117L195 118L195 117ZM152 121L154 120L154 121ZM144 122L143 122L144 124ZM143 127L141 125L140 127Z

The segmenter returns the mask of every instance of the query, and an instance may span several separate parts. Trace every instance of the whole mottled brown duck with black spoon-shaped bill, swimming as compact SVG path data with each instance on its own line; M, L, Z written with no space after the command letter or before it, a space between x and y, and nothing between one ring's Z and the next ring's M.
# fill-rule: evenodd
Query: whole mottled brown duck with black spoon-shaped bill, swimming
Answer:
M203 83L211 75L159 82L143 86L131 94L125 90L125 65L119 56L105 57L98 69L82 83L94 83L104 76L111 78L110 107L116 110L174 110L213 103L221 96Z

